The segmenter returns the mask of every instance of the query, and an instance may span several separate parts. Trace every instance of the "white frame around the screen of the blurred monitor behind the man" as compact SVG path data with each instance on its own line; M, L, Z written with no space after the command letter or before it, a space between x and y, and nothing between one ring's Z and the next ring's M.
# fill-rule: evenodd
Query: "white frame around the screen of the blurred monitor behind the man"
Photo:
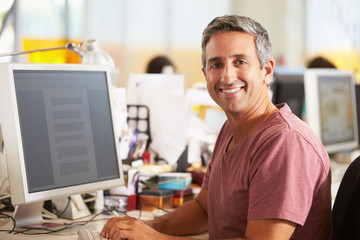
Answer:
M324 144L325 150L331 153L342 151L351 151L358 147L358 124L355 96L355 77L351 71L339 69L308 69L304 73L305 101L306 101L306 121L313 129L315 134L323 142L321 135L321 116L319 101L319 77L344 77L351 81L351 99L352 99L352 121L354 139L341 143Z

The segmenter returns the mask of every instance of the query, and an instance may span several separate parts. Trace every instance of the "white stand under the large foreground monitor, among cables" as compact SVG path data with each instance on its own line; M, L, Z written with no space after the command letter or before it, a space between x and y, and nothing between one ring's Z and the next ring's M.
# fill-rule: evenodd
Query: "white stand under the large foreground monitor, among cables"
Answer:
M13 214L16 226L22 227L29 224L41 223L44 221L43 217L51 219L57 218L53 213L43 209L43 205L43 201L16 205Z

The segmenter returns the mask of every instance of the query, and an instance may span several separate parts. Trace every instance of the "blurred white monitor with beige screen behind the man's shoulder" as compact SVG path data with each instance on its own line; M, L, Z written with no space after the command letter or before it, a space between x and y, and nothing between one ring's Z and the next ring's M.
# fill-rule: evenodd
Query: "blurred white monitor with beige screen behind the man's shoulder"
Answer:
M307 122L327 152L358 146L355 79L352 72L309 69L304 74Z

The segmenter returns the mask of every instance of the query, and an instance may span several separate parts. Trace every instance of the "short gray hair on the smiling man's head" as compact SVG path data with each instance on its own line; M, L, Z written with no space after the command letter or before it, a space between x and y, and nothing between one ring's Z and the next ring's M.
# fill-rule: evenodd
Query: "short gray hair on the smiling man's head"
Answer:
M269 35L260 23L251 18L238 15L216 17L205 28L201 42L203 68L205 69L206 66L205 47L210 38L216 33L231 31L245 32L255 37L257 57L260 61L260 68L262 69L268 59L272 57Z

